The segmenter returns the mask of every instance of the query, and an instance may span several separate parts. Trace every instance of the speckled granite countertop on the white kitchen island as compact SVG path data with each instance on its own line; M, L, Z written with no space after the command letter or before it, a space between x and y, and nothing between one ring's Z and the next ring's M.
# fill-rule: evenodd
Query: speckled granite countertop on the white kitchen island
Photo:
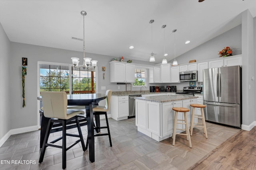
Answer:
M187 99L194 99L198 98L196 96L183 96L183 95L161 95L161 96L148 96L148 97L137 97L136 99L139 100L147 100L150 102L173 102L179 100L187 100Z

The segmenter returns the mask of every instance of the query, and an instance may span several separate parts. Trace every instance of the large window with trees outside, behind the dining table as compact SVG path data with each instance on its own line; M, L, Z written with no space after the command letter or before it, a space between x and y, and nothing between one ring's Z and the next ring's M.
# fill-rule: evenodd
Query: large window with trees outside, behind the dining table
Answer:
M95 70L86 71L69 69L67 65L39 64L40 66L40 92L64 91L70 93L72 86L73 94L95 93L96 74ZM72 76L70 76L72 72ZM71 82L70 82L71 81Z

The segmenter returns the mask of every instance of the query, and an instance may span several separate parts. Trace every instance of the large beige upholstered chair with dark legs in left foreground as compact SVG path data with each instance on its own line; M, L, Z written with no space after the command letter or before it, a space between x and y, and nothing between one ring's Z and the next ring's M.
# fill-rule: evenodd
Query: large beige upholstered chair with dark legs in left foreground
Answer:
M82 136L82 131L80 128L80 124L78 121L78 114L84 114L84 111L76 110L76 109L67 109L68 99L66 92L41 92L42 102L44 106L44 116L49 117L46 135L44 137L44 143L42 146L39 163L43 162L44 153L46 147L57 147L62 149L62 168L66 168L66 151L81 142L82 149L85 151L84 139ZM76 119L76 126L78 129L79 135L66 133L66 123ZM50 135L50 131L52 129L53 123L61 123L62 124L62 137L55 139L54 141L48 143L48 138ZM79 139L72 144L70 147L66 147L66 136L79 137ZM54 145L57 141L62 139L62 146Z

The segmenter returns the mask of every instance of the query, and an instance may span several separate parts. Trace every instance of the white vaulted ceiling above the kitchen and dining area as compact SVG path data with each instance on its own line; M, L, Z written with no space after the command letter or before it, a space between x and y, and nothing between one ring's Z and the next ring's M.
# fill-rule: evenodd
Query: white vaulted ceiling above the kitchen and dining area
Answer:
M168 61L241 23L256 0L0 0L0 23L10 41L125 59ZM154 20L152 25L150 20ZM164 29L165 28L165 43ZM190 40L189 44L185 44ZM133 45L134 49L129 49Z

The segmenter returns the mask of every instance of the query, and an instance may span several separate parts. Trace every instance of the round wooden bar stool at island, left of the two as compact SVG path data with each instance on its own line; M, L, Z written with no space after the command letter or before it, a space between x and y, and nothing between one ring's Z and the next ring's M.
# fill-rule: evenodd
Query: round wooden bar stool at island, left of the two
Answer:
M189 143L189 147L192 148L191 139L190 139L190 133L189 133L189 128L188 128L188 117L187 117L187 112L189 111L189 109L184 108L184 107L173 107L172 109L175 111L175 113L174 113L174 123L173 123L173 133L172 133L172 139L173 139L172 145L173 146L175 145L176 135L186 135L188 143ZM178 112L183 112L184 120L177 119ZM184 121L185 123L180 123L180 122L177 122L177 121ZM176 129L177 129L176 126L177 126L177 124L185 125L186 129L178 129L178 130L186 130L186 134L184 134L184 133L176 133Z

